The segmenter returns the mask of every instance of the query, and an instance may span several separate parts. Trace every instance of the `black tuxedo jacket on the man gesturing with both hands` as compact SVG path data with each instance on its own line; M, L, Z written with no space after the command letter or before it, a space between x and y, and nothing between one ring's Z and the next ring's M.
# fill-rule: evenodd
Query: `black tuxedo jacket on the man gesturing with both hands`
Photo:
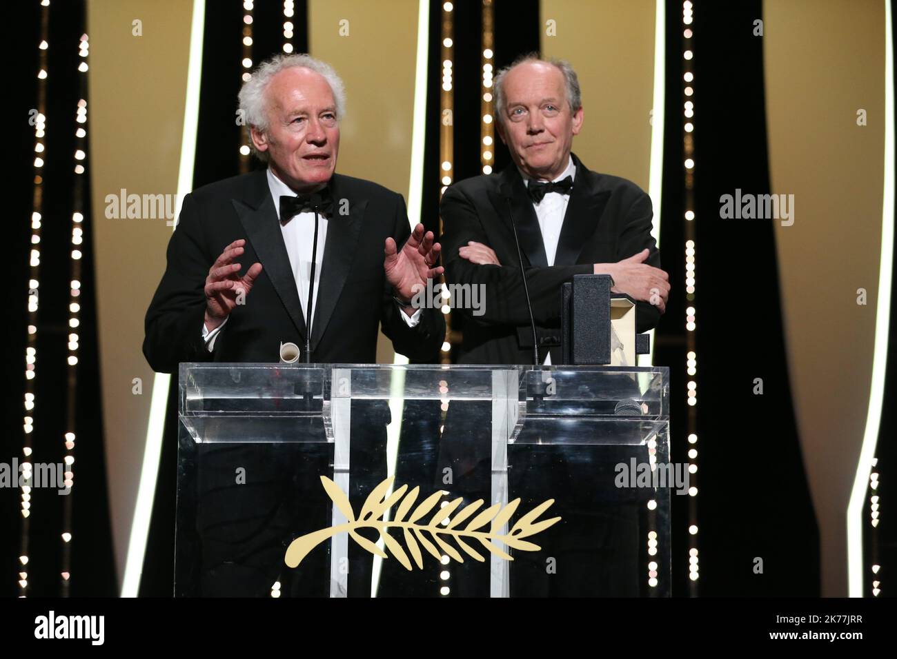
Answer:
M338 174L330 189L334 213L314 308L312 361L376 361L378 323L396 351L413 362L438 360L445 336L440 309L423 309L420 323L408 327L383 270L384 240L392 236L401 247L411 234L402 196ZM340 214L343 200L348 214ZM224 247L239 238L246 239L235 261L243 266L239 272L256 262L263 270L209 352L202 338L205 278ZM200 187L184 198L144 330L146 360L165 373L182 361L277 362L281 342L304 351L305 319L265 170Z

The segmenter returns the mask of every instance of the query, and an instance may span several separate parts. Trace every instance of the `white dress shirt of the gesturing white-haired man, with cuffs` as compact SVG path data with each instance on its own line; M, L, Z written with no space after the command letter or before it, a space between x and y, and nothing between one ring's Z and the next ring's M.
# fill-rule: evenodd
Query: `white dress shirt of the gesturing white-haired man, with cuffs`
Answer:
M280 198L281 196L296 196L290 186L287 186L280 178L274 175L271 169L267 169L268 189L274 198L274 211L277 213L277 220L281 220L280 216ZM547 195L546 195L547 196ZM311 281L311 247L314 242L315 235L315 212L300 212L288 222L281 222L281 234L283 235L283 245L286 247L287 256L290 258L290 267L292 275L296 280L296 290L299 292L299 301L302 305L302 316L305 317L305 325L307 331L311 331L309 323L309 310L306 308L309 303L309 282ZM327 218L318 215L318 251L315 254L315 290L312 293L311 308L312 313L318 308L318 290L321 281L321 264L324 261L324 246L327 244ZM421 320L421 309L414 311L413 316L406 316L405 312L399 313L405 319L405 323L409 327L414 327ZM224 319L221 325L215 327L211 332L205 328L203 323L203 340L208 351L213 351L215 338L221 332L222 327L227 323Z

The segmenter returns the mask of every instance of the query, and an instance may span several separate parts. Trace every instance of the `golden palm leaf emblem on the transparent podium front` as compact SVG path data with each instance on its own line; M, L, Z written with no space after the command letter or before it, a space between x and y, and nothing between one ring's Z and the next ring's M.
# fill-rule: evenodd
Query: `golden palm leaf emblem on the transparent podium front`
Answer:
M424 524L420 521L421 518L436 507L436 504L443 496L442 490L433 492L429 497L423 499L417 507L414 507L414 503L420 494L420 488L415 487L414 490L408 491L408 486L403 485L388 495L387 493L392 483L393 477L390 476L386 481L381 482L376 488L371 490L370 495L368 495L364 505L361 507L361 513L356 517L345 492L340 490L339 486L327 478L327 476L321 476L321 484L324 486L324 490L327 491L327 496L333 500L334 505L339 508L348 521L345 524L330 526L329 528L306 533L296 538L287 548L286 556L284 557L286 564L290 568L295 568L309 554L309 551L317 547L318 544L336 533L344 532L348 532L355 542L358 542L361 547L370 551L370 553L384 559L388 558L386 551L381 550L374 542L370 542L361 533L358 533L360 528L376 529L389 553L398 559L405 566L405 569L409 570L413 568L408 554L411 554L414 564L418 568L423 568L421 547L437 560L440 560L442 553L445 553L459 563L463 563L464 557L454 546L457 545L457 548L460 548L461 551L464 551L471 558L481 562L485 561L483 554L476 551L471 546L472 544L482 546L485 550L502 559L513 560L510 554L502 550L495 542L501 542L509 548L520 551L539 551L542 549L539 545L527 542L523 538L536 535L536 533L540 533L549 526L561 521L561 517L538 519L554 503L554 499L548 499L530 510L526 515L521 516L508 533L503 533L503 527L517 511L520 499L510 501L505 507L501 507L501 504L497 503L483 510L480 510L483 507L483 499L477 499L461 508L457 515L451 517L452 513L461 505L463 499L459 497L437 510L430 518L430 521ZM384 516L387 511L396 504L398 504L396 515L389 520L385 520ZM414 511L412 511L412 507L414 507ZM462 527L462 523L467 519L470 519L470 521ZM448 523L446 523L446 520L448 520ZM490 522L492 524L487 530L484 527L490 524ZM390 526L402 529L405 547L387 532ZM432 542L428 539L428 536L432 539ZM454 542L454 545L452 542ZM407 548L407 551L405 548Z

